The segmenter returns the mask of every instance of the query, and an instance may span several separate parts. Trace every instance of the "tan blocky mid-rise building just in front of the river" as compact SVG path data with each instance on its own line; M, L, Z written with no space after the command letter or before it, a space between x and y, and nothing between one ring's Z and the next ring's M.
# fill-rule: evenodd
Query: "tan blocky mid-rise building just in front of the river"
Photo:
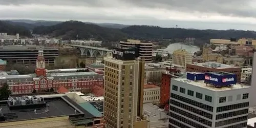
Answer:
M173 52L173 64L186 67L186 63L192 63L192 54L185 49L178 49Z

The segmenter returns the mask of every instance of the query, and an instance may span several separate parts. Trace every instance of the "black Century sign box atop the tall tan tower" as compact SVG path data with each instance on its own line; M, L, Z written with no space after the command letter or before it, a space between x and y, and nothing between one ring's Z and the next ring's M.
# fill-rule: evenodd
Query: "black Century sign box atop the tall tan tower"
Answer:
M120 60L134 60L138 57L137 49L113 48L113 57Z

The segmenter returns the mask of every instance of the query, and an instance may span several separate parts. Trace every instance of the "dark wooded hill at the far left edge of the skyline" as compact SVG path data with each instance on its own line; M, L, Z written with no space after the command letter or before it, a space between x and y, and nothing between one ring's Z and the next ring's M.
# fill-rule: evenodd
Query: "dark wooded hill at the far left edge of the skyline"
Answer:
M20 36L32 37L31 32L27 28L3 21L0 21L0 33L7 33L8 35L19 33Z

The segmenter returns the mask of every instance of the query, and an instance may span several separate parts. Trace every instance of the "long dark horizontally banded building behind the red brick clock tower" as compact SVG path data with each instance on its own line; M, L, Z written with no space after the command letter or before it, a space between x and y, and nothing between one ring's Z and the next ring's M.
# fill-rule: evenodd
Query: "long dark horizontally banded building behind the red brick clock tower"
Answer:
M58 49L44 46L3 46L0 48L0 59L26 66L35 66L38 50L44 51L46 65L55 65L59 56Z

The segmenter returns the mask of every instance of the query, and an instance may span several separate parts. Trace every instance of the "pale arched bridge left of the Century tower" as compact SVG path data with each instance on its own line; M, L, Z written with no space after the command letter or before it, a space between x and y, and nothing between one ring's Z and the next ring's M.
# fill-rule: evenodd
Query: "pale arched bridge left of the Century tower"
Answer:
M112 50L109 50L106 48L82 46L82 45L70 45L70 44L65 44L65 45L75 47L76 49L80 50L81 55L86 55L90 57L106 56L107 54L111 54L112 52Z

